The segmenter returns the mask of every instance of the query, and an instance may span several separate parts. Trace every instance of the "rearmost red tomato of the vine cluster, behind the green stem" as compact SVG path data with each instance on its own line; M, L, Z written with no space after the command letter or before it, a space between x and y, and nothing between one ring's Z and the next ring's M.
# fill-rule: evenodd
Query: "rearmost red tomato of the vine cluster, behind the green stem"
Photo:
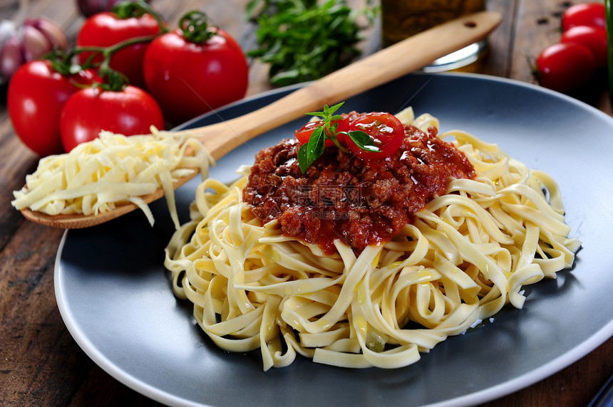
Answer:
M78 47L108 47L130 38L155 36L158 33L160 33L158 21L150 14L119 18L108 11L94 14L83 23L76 38L76 45ZM147 46L146 42L136 43L117 51L110 58L110 68L126 75L131 85L144 88L143 58ZM80 53L78 59L81 63L85 63L91 55L92 53ZM101 62L102 56L97 56L93 61Z

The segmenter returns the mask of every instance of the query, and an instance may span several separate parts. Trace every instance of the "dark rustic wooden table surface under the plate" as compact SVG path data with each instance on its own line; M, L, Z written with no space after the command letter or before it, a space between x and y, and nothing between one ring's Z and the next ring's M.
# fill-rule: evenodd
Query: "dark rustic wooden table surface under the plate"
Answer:
M253 26L245 23L246 0L153 0L171 24L184 11L200 9L247 49ZM533 82L526 56L537 54L560 36L560 15L579 1L488 0L500 11L502 25L490 38L483 73ZM0 0L0 18L10 17L16 0ZM61 24L74 40L83 17L73 0L31 0L30 16ZM365 53L378 48L380 33L369 31ZM252 63L248 93L269 89L264 65ZM605 83L581 95L585 102L611 115ZM120 384L83 353L61 319L53 292L53 264L63 231L26 221L11 207L11 191L36 169L36 154L14 134L6 112L6 87L0 100L0 405L157 406ZM486 406L586 406L613 374L613 339L562 371Z

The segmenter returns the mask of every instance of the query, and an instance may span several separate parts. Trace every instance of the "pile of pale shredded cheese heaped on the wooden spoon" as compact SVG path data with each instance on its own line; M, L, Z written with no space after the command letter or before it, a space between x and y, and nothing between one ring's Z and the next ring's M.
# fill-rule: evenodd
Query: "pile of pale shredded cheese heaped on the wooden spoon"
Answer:
M190 155L186 155L187 149ZM191 155L193 152L193 155ZM11 204L48 215L98 215L128 202L137 205L153 226L153 213L141 196L164 189L175 227L179 228L172 182L200 168L207 176L212 157L189 134L160 132L126 137L101 132L67 154L44 157L26 186L14 191Z

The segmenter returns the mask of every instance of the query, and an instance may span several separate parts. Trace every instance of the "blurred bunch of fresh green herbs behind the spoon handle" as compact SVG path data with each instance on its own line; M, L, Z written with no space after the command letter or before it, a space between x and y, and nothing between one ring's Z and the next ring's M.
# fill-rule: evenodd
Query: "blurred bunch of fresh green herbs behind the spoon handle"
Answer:
M373 21L377 8L354 10L345 0L251 0L246 14L257 21L257 44L248 56L270 64L270 83L291 85L315 80L351 62L361 51L364 14Z

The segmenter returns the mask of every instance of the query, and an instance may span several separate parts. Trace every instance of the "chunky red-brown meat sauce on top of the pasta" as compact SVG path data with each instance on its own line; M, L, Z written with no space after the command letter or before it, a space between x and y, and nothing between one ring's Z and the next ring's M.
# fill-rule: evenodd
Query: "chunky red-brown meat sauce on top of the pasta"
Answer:
M243 200L262 222L277 219L284 234L326 254L336 239L359 253L391 240L450 179L474 178L465 155L437 132L406 125L398 152L376 161L329 147L305 174L299 142L285 139L256 154Z

